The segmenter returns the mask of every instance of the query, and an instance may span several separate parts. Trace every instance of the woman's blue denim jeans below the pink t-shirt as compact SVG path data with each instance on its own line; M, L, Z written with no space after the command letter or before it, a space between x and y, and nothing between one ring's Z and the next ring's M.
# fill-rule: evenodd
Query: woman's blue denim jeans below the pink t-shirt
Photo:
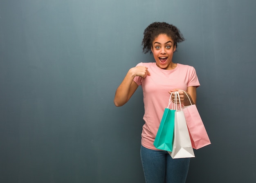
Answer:
M141 163L146 183L185 183L190 158L172 159L167 151L141 146Z

